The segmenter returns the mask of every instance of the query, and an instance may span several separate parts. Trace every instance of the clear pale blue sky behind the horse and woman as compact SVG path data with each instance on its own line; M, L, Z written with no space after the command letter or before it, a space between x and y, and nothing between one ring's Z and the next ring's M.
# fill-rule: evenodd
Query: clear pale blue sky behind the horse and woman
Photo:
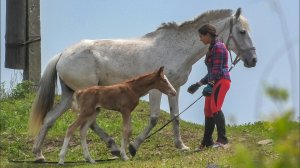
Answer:
M9 83L16 71L4 68L5 2L1 0L1 82ZM280 17L274 2L282 10ZM298 117L299 0L42 0L42 71L52 56L81 39L138 37L155 30L163 22L181 23L208 10L239 7L249 21L258 64L251 69L238 64L231 72L232 84L223 105L227 121L243 124L270 119L276 114L276 106L263 93L262 83L287 88L291 98L284 108L293 105ZM285 18L284 26L281 17ZM283 32L282 28L287 30ZM292 58L292 68L288 58ZM186 89L205 73L201 59L181 88L180 111L200 96L200 91L190 95ZM204 99L181 118L203 123L203 105ZM163 96L161 108L169 111L168 107L167 98Z

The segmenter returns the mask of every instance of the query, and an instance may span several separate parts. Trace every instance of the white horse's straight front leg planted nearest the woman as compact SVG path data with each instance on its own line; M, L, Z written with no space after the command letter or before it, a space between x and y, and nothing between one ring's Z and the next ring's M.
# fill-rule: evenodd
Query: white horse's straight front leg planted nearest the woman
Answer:
M174 118L176 115L179 114L178 98L179 98L180 88L176 88L176 91L177 91L176 96L168 96L171 118ZM185 146L181 140L181 135L179 130L179 117L176 117L176 119L174 119L173 121L173 133L174 133L175 147L181 150L189 150L190 148Z

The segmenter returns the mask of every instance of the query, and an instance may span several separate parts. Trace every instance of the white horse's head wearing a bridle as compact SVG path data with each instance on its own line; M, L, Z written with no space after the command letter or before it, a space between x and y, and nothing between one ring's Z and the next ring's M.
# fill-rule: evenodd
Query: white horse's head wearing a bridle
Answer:
M226 25L229 25L229 36L226 41L228 49L244 62L245 67L255 67L257 62L255 47L250 37L248 22L241 16L241 8L236 11L235 15L230 18L229 24Z

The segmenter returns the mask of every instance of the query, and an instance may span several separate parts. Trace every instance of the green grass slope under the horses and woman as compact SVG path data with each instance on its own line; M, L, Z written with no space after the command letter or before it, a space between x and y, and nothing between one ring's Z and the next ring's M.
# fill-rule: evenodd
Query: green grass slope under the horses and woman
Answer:
M12 163L10 160L31 160L34 155L31 148L34 138L27 135L27 122L30 113L34 94L24 94L17 98L6 97L1 99L0 113L0 167L61 167L57 164L30 164L30 163ZM56 97L59 101L60 97ZM201 117L202 113L199 112ZM74 121L75 114L67 111L61 116L55 125L49 131L43 145L43 153L47 161L58 161L58 153L63 143L65 131ZM155 130L170 119L168 113L161 111L159 122ZM121 115L114 111L102 111L97 123L114 137L120 145L121 140ZM149 104L141 101L135 111L132 113L133 133L131 140L147 126L149 122ZM269 122L256 122L254 124L245 124L240 126L227 126L227 135L231 147L228 149L208 149L203 152L193 152L197 147L203 135L203 125L180 122L180 131L183 142L189 146L191 151L180 151L174 147L172 124L146 140L130 161L116 159L113 161L90 163L65 164L65 167L207 167L208 165L219 165L219 167L237 167L236 162L245 162L247 165L269 165L276 160L281 160L283 156L276 143L280 144L283 138L292 139L292 144L299 148L299 136L296 138L290 135L299 135L299 122L290 122L287 135L280 134L275 136L272 130L274 125ZM276 127L275 127L276 128ZM215 131L216 132L216 131ZM277 131L278 132L278 131ZM283 137L283 138L282 138ZM216 134L214 134L214 139ZM281 138L281 140L280 140ZM298 139L297 139L298 138ZM264 139L274 139L271 145L258 146L257 142ZM294 141L295 142L294 142ZM88 144L91 155L94 159L109 159L112 157L106 145L97 135L89 131ZM289 151L288 151L289 152ZM292 152L292 151L291 151ZM128 154L129 156L129 154ZM296 158L296 164L299 163L299 152L291 153L291 157ZM249 159L250 158L250 159ZM298 159L297 159L298 158ZM69 150L66 155L67 161L83 161L82 148L79 140L78 131L72 137ZM295 159L294 159L295 160ZM260 164L263 162L263 164ZM243 167L243 166L242 166ZM264 166L265 167L265 166ZM268 167L268 166L266 166ZM275 167L275 166L274 166ZM292 165L293 167L293 165Z

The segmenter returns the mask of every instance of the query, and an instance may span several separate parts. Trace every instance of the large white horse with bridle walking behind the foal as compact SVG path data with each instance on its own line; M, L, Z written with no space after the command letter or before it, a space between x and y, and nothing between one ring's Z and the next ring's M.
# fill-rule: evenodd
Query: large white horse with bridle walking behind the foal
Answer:
M178 93L175 97L168 97L170 115L176 116L179 113L180 86L186 83L192 65L208 49L208 46L200 42L197 31L206 23L216 26L219 38L227 41L229 50L241 58L245 67L254 67L257 61L255 48L248 22L240 14L240 8L235 14L229 9L212 10L180 25L164 23L157 30L134 39L83 40L53 57L41 78L29 122L30 131L39 132L33 145L36 161L44 161L41 147L45 136L56 119L70 108L72 95L78 89L115 84L165 66L165 74ZM57 75L61 83L62 98L53 107ZM157 123L161 95L158 90L149 92L149 125L130 144L132 156ZM115 141L96 122L91 129L105 141L113 155L119 155L120 150ZM175 147L188 150L189 147L181 140L179 119L173 122L173 132Z

